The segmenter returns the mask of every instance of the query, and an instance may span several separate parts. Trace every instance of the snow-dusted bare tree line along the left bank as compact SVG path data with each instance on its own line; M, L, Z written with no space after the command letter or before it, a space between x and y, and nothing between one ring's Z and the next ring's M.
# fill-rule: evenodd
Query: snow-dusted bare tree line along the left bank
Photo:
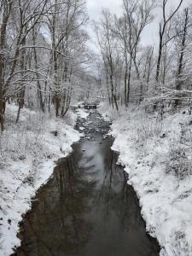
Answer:
M90 62L84 0L0 0L0 125L8 102L64 116Z

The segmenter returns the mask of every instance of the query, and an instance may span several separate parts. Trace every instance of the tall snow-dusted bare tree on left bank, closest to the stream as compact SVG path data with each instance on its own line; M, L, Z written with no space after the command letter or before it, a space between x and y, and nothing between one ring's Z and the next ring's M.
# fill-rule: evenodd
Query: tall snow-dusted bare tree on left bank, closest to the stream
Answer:
M73 62L74 57L71 54L72 49L69 44L73 41L76 33L86 20L84 1L82 0L67 0L66 2L55 0L55 4L47 19L51 37L51 48L54 49L50 62L52 63L52 74L55 83L53 102L55 103L56 116L60 114L63 116L67 113L69 107L72 91L71 85L69 85L71 84L69 81L72 74L70 62ZM83 32L82 36L84 37ZM82 38L82 36L79 35L79 38ZM74 47L77 47L77 45ZM63 57L58 55L57 50L62 52Z

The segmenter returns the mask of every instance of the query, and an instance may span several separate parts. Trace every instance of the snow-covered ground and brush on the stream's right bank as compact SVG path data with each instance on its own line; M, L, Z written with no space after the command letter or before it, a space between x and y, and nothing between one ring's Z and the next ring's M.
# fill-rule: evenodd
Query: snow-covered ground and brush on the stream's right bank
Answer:
M161 256L192 255L192 117L187 113L120 113L103 106L112 119L113 150L137 192L151 236Z

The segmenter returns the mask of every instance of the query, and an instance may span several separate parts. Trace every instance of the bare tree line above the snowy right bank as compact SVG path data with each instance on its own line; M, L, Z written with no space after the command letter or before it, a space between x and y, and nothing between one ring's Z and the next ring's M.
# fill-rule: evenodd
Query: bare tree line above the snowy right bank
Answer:
M102 10L94 30L102 56L99 73L113 108L131 102L146 102L153 110L190 107L192 5L185 2L171 9L169 0L123 0L120 16ZM152 22L159 22L157 37L143 46L143 32L157 32L148 26Z

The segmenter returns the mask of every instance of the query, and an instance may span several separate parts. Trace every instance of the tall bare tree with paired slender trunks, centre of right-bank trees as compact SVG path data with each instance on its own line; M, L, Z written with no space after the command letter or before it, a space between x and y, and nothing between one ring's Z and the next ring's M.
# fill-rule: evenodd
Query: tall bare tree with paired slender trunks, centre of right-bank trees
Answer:
M125 75L124 75L124 98L125 106L130 101L131 87L131 68L134 65L137 72L137 79L140 83L140 101L142 101L143 83L140 77L139 65L137 63L138 44L140 43L143 29L151 20L151 11L154 3L150 1L128 1L124 0L124 15L116 18L115 33L122 43L123 55L125 58Z

